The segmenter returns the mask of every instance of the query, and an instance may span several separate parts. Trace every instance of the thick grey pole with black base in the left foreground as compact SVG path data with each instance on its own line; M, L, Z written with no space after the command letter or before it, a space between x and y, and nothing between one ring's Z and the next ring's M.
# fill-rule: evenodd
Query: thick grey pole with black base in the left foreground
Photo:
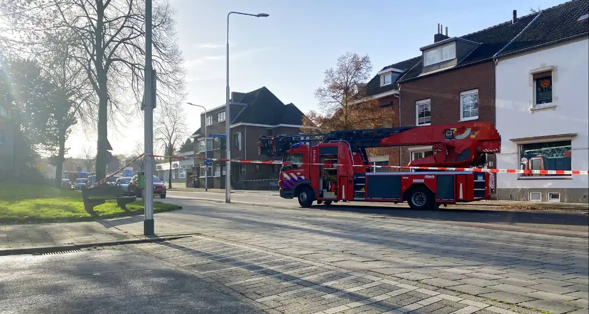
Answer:
M145 97L145 186L143 202L145 205L145 216L143 219L143 234L153 236L153 108L155 102L154 82L155 76L151 66L151 1L145 0L145 74L144 74L144 97Z

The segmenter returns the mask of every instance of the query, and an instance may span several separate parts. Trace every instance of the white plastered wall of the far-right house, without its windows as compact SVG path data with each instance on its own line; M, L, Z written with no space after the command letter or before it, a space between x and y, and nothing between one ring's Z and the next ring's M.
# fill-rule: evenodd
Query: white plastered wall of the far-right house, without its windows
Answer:
M555 108L531 112L530 71L554 66ZM589 40L499 60L495 71L497 130L501 134L498 169L518 169L518 146L510 139L578 133L572 139L572 169L589 168ZM498 173L497 188L587 188L587 175L573 179L519 179Z

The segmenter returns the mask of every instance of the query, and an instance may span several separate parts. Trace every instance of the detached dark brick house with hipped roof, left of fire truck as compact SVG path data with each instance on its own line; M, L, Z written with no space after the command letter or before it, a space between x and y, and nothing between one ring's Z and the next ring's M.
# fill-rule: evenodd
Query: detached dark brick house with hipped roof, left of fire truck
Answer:
M230 99L231 134L227 136L231 145L231 159L270 160L260 156L257 143L260 135L300 133L303 113L292 103L286 105L266 87L247 93L233 92ZM225 105L200 115L201 125L207 126L207 133L225 134ZM204 158L204 128L197 129L193 135L194 152L197 158ZM225 158L226 139L207 139L208 158ZM231 188L269 189L270 182L277 181L279 165L256 165L253 163L231 163ZM198 186L204 187L204 164L197 159L194 173L198 176ZM208 172L209 188L225 188L225 163L213 162Z

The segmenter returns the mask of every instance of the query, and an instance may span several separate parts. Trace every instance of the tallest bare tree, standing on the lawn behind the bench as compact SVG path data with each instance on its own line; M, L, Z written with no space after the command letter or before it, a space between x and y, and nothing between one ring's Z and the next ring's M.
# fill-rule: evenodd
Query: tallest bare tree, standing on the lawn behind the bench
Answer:
M98 98L97 179L104 178L107 159L107 120L115 113L137 111L124 105L133 92L137 105L143 99L145 56L145 3L140 0L14 0L4 17L16 35L4 42L28 45L31 53L55 41L55 34L71 32L75 47L70 57L83 66ZM184 96L186 72L176 42L174 11L168 2L153 7L153 68L157 71L158 105L174 104ZM31 44L32 43L32 44ZM4 45L7 48L7 45Z

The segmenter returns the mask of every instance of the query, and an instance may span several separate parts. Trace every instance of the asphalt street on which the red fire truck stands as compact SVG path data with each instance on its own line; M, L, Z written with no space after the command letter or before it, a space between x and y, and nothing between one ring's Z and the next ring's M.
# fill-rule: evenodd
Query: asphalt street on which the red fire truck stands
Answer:
M326 212L348 212L376 216L384 219L418 219L446 225L473 226L552 235L589 235L589 216L581 211L497 209L492 206L448 207L439 211L413 211L406 204L392 203L334 203L329 206L315 205L302 209L295 199L282 199L276 192L234 192L234 203L261 205L276 208L299 209L300 211L321 210ZM209 200L224 202L224 193L168 191L167 202L193 204ZM156 198L156 201L161 201ZM561 232L564 231L564 232ZM567 233L568 232L568 233Z

